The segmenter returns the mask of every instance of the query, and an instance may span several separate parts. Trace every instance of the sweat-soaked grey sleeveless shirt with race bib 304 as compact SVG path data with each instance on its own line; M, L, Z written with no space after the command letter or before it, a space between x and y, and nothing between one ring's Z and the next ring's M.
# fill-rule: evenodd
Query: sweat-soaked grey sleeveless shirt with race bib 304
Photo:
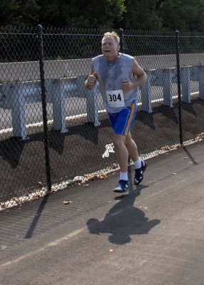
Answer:
M134 59L125 53L119 53L114 61L108 61L103 55L92 58L94 71L98 74L103 104L108 113L118 113L137 99L138 88L128 92L122 90L124 80L136 80L132 76Z

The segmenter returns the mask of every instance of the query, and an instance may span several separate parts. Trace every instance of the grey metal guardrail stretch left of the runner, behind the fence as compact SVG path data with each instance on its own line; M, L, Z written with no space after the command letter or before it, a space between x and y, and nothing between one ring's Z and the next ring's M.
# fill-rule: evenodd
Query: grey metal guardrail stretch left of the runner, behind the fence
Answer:
M94 126L98 120L98 88L91 91L84 87L85 76L46 79L46 101L53 104L53 130L66 133L66 99L86 98L87 120ZM0 108L11 109L14 137L26 139L25 105L41 102L40 81L2 83Z

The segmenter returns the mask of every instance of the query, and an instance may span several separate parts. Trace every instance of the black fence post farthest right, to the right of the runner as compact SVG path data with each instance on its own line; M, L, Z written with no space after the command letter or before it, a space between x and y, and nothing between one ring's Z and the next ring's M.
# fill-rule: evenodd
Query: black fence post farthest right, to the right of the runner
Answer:
M176 69L177 69L177 86L178 86L178 120L179 120L179 136L180 145L183 145L183 130L182 130L182 113L181 113L181 92L180 92L180 51L179 51L179 36L178 30L175 31L175 51L176 51Z

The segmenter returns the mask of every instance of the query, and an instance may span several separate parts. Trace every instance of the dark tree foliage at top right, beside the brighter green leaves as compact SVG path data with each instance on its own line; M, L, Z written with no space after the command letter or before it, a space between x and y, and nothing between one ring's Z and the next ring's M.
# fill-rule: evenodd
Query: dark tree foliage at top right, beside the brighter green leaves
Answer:
M126 0L124 29L203 31L204 0Z

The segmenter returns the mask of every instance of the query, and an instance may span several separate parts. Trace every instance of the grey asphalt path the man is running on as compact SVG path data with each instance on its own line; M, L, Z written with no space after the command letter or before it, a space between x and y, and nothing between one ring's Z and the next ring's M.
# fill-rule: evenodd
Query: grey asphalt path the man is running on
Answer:
M204 142L147 162L1 212L0 284L203 285Z

